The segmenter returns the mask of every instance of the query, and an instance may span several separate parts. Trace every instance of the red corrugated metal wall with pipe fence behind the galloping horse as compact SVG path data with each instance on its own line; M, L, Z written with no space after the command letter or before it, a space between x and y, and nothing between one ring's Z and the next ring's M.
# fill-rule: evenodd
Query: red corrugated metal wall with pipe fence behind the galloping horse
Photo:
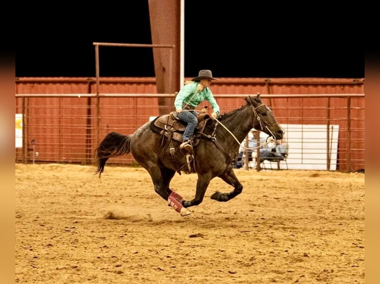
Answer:
M221 113L241 107L245 103L244 95L247 94L215 95ZM162 113L159 100L174 101L174 97L165 94L16 94L15 112L23 115L23 140L22 147L16 148L15 160L91 164L97 143L108 132L132 134L150 117ZM261 97L280 124L338 125L336 169L365 168L364 94ZM303 148L293 151L302 153ZM324 155L318 150L316 154ZM130 154L112 158L109 163L135 165Z

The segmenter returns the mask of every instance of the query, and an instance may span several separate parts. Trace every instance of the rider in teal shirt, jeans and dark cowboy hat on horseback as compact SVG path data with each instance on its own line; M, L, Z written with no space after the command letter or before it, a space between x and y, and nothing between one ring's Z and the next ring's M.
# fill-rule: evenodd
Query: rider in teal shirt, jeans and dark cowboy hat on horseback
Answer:
M191 79L193 82L185 84L174 101L178 118L187 123L183 143L180 145L180 148L185 149L186 151L191 150L191 136L193 135L195 127L198 123L196 118L197 113L194 110L195 107L197 107L202 101L208 100L213 111L211 113L211 117L216 118L219 115L219 105L209 88L211 85L211 80L219 81L218 79L212 78L212 73L210 70L200 70L198 77Z

